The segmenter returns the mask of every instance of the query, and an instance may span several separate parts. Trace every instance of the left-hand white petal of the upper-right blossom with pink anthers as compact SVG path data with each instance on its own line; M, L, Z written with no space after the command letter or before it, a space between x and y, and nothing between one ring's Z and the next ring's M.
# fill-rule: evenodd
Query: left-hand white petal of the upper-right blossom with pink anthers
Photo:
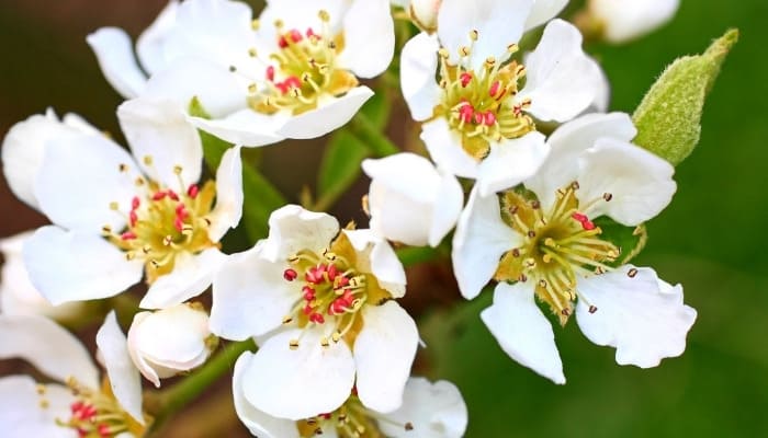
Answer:
M400 54L400 89L417 122L430 118L440 102L442 89L434 81L439 48L437 36L422 32L410 38Z

